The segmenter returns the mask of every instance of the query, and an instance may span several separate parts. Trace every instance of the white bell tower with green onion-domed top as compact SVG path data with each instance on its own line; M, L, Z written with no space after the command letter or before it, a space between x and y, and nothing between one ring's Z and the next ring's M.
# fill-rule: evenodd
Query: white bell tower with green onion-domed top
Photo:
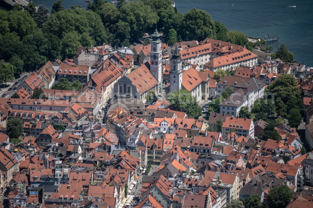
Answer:
M157 30L151 35L150 71L158 80L158 90L162 89L162 48L160 33Z

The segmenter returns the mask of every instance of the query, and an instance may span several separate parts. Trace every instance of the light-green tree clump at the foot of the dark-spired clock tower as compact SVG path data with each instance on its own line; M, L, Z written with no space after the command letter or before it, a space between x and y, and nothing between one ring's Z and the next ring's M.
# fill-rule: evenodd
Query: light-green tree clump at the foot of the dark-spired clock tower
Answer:
M186 112L188 116L198 118L202 113L197 100L186 89L174 90L167 100L171 104L172 109Z

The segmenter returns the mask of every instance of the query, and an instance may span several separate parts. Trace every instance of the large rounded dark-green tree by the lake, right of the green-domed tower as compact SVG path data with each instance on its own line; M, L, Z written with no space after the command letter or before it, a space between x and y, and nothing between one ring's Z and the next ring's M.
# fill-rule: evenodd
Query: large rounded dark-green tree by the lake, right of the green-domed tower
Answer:
M182 39L185 41L198 40L205 38L216 39L215 25L212 17L203 10L192 8L183 17L181 25Z

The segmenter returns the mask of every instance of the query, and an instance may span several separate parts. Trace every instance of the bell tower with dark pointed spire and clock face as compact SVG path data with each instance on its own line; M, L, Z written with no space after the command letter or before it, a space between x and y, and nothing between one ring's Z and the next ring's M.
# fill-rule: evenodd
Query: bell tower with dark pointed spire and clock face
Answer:
M170 72L170 92L182 88L182 59L177 46L172 54Z

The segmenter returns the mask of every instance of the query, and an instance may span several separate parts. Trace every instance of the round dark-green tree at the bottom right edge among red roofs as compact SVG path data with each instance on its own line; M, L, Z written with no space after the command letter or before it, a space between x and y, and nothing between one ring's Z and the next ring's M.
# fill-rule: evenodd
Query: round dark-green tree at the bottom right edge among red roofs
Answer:
M271 208L284 208L294 196L294 192L286 185L275 186L269 190L267 200Z

